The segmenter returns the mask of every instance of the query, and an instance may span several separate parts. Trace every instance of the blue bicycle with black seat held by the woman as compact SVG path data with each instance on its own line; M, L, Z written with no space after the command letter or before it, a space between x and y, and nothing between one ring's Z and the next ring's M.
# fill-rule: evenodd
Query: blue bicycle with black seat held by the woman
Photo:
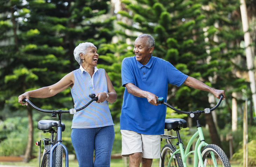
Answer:
M38 122L37 128L42 130L43 133L49 132L50 138L43 138L40 141L36 141L36 146L39 146L39 167L41 161L41 141L44 145L44 151L42 155L42 162L41 167L62 167L62 156L63 150L65 152L65 167L68 167L68 150L67 147L62 144L62 132L65 130L66 126L64 123L61 122L61 114L62 113L70 113L75 114L77 111L80 111L86 108L90 103L93 101L97 101L98 97L95 97L95 94L89 94L89 97L92 98L85 106L79 109L70 109L70 110L43 110L36 107L31 101L24 98L22 99L23 102L27 102L32 108L35 110L45 112L45 113L52 113L52 117L56 118L57 115L59 117L59 121L52 121L52 120L41 120ZM56 133L54 139L54 133Z

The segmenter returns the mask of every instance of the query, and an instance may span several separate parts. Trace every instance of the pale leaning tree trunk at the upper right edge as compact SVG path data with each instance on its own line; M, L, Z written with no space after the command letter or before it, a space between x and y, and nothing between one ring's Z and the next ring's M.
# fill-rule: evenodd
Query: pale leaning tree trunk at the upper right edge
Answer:
M254 66L253 66L253 57L252 57L252 51L251 51L251 40L250 40L250 34L248 32L249 24L248 24L248 16L247 16L247 9L245 5L245 0L240 0L240 10L241 10L241 18L242 18L242 25L243 25L243 31L244 31L244 44L245 44L245 53L246 53L246 62L247 62L247 68L248 68L248 74L249 74L249 80L250 80L250 87L251 87L251 93L252 93L252 101L254 103L254 111L256 114L256 87L255 87L255 75L254 75Z

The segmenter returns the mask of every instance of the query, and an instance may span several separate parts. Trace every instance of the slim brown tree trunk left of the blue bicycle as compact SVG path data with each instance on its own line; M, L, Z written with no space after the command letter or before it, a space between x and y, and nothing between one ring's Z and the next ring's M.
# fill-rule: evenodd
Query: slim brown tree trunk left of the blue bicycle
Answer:
M32 109L27 106L28 111L28 143L27 149L23 158L23 162L29 162L32 157L32 146L33 146L33 119L32 119Z

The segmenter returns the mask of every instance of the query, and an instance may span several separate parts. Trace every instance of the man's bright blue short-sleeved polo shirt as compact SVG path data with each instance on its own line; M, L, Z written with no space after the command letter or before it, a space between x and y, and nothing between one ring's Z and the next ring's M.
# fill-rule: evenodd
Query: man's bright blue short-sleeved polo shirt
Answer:
M142 90L167 99L168 84L180 86L187 75L178 71L168 61L151 56L146 65L136 57L124 58L122 61L122 86L132 83ZM132 130L145 135L164 134L166 106L154 106L147 98L136 97L124 90L120 129Z

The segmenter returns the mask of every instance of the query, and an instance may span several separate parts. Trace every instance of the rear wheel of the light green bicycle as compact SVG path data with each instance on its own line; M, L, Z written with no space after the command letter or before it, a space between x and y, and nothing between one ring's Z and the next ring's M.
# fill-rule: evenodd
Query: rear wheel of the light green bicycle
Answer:
M176 150L176 147L171 144L166 144L162 148L161 151L161 158L160 158L160 166L161 167L168 167L168 163L170 161L171 167L183 167L183 162L181 159L180 153L174 154L173 158L171 158L171 155L173 155L174 151Z

